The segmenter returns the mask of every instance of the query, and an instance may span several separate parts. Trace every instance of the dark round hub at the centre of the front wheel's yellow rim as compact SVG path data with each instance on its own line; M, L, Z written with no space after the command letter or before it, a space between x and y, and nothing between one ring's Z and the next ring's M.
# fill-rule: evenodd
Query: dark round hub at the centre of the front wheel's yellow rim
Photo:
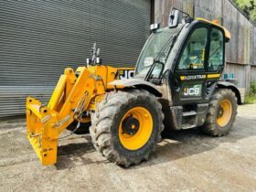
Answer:
M122 133L133 135L138 132L140 123L137 119L133 118L133 115L126 117L123 120Z

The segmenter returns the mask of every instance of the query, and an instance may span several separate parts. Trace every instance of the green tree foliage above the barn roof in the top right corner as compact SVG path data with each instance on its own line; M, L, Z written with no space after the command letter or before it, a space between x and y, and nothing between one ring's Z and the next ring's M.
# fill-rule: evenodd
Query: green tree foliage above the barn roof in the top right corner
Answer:
M250 18L256 21L256 0L234 0Z

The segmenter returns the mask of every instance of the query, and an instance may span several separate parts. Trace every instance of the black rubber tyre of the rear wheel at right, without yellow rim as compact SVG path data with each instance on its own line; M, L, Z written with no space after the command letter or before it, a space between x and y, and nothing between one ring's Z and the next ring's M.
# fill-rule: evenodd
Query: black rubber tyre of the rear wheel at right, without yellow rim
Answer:
M223 114L223 112L219 111L219 107L221 107L220 103L222 101L229 101L231 105L229 122L224 126L220 126L218 123L219 115L221 115L221 113ZM199 127L199 130L211 136L224 136L228 134L236 119L237 109L238 104L235 93L229 89L218 89L209 101L206 123Z

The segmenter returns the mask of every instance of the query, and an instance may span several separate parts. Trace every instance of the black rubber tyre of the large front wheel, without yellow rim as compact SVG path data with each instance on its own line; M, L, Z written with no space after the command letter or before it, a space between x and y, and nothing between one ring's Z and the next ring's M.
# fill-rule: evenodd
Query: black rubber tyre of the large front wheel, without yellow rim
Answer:
M143 107L152 115L153 130L147 142L139 149L130 150L119 138L123 115L135 107ZM126 90L107 93L91 115L91 141L97 151L117 165L136 165L147 160L161 140L164 113L155 95L144 90Z

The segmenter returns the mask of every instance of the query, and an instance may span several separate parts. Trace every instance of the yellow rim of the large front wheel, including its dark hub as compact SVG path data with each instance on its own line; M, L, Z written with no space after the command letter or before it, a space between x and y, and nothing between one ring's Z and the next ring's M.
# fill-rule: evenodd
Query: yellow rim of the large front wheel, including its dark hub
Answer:
M119 139L123 147L137 150L144 146L153 131L153 118L144 107L134 107L123 115L119 125Z

